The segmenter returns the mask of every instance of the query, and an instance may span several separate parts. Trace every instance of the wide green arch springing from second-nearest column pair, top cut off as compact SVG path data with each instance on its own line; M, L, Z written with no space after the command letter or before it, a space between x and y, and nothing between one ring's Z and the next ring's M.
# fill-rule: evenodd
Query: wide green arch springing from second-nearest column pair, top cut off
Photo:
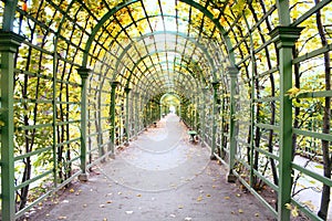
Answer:
M114 7L113 9L111 9L101 20L100 22L94 27L93 31L91 32L91 35L89 38L89 40L86 41L85 44L85 50L84 50L84 55L83 55L83 61L82 61L82 66L86 66L87 64L87 57L89 57L89 51L90 48L92 45L92 42L94 41L94 38L96 35L96 33L98 32L98 30L102 28L102 25L113 15L115 14L118 10L132 4L132 3L136 3L139 0L131 0L131 1L124 1L122 3L120 3L118 6ZM229 36L226 34L225 29L222 28L222 25L219 23L218 20L216 20L212 15L211 12L209 12L208 10L206 10L203 6L200 6L199 3L193 1L193 0L179 0L181 2L185 2L187 4L189 4L190 7L196 8L198 11L200 11L201 13L204 13L207 18L210 19L210 21L217 27L217 29L219 30L219 32L221 33L221 35L224 36L224 43L226 45L226 49L228 50L228 55L229 55L229 61L231 63L231 66L235 66L235 55L234 52L231 51L231 42Z

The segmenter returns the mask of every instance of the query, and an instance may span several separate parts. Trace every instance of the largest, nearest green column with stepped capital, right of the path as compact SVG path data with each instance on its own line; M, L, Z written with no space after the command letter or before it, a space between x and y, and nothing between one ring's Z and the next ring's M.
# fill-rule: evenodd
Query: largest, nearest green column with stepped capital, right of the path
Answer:
M278 220L290 220L286 203L291 201L292 187L292 101L286 96L292 87L292 48L302 28L277 27L270 33L279 50L280 72L280 147L279 147L279 192Z

